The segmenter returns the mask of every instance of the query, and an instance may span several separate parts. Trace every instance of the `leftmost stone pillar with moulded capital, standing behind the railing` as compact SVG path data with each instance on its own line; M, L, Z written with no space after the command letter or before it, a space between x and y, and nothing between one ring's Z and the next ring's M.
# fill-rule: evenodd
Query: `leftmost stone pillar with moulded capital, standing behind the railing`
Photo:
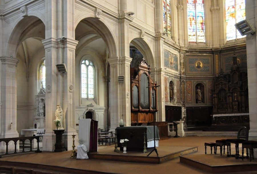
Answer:
M0 138L19 137L17 132L17 64L14 57L0 57L2 62L1 89L2 107L0 112ZM3 143L3 142L2 142ZM19 146L18 146L19 147ZM10 141L8 148L14 149L14 142ZM19 149L19 148L18 148ZM5 145L0 146L0 152L5 151Z

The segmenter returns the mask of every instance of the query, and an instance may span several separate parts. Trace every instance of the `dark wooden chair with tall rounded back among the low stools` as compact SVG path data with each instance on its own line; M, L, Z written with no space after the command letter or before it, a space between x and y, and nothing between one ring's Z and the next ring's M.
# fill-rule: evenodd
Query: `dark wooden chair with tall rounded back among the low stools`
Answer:
M240 156L239 156L239 144L244 142L244 141L247 141L248 140L248 130L246 127L241 127L239 130L238 130L238 133L237 133L237 138L234 138L234 139L227 139L226 142L227 143L234 143L235 144L235 147L236 147L236 155L227 155L228 157L230 156L235 156L236 159L238 159Z

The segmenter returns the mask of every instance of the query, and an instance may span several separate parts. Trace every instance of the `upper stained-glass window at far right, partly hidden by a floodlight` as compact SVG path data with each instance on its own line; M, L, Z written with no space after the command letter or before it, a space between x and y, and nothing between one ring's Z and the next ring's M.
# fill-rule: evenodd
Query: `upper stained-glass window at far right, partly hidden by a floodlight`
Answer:
M242 36L235 24L245 19L245 0L226 0L226 39L240 39Z

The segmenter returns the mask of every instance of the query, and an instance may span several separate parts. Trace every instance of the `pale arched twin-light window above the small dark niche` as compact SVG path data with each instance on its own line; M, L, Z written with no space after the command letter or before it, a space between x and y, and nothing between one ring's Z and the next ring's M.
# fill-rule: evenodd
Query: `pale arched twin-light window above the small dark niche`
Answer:
M81 62L81 97L94 98L95 68L90 60Z

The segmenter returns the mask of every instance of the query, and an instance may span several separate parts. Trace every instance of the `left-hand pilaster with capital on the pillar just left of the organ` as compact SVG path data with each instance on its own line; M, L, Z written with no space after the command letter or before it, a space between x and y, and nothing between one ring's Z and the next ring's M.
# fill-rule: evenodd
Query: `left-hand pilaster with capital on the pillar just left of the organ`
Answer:
M108 59L110 64L110 131L115 131L119 126L119 118L121 118L121 84L118 83L120 73L120 58L112 57Z

